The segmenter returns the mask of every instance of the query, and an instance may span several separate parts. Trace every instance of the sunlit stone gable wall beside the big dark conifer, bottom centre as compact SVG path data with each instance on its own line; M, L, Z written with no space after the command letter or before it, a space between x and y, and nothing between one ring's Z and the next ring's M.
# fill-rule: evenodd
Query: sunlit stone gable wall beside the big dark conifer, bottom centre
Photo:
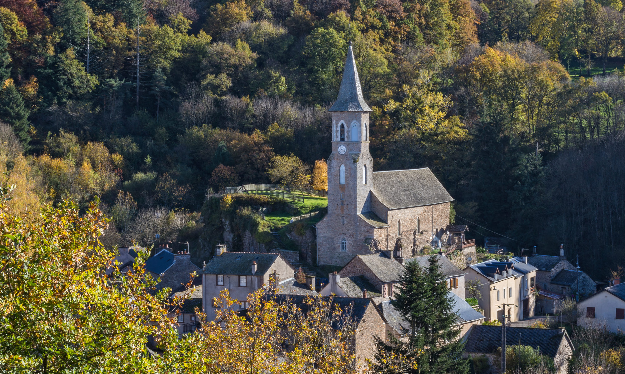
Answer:
M386 341L386 323L376 309L373 302L369 304L364 317L356 330L356 367L359 372L367 368L366 359L373 359L376 352L374 337Z

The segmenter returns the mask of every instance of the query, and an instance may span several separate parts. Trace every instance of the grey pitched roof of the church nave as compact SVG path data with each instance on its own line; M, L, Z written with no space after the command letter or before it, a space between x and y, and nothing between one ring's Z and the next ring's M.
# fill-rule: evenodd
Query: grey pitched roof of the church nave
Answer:
M389 209L453 201L429 168L374 171L372 191Z

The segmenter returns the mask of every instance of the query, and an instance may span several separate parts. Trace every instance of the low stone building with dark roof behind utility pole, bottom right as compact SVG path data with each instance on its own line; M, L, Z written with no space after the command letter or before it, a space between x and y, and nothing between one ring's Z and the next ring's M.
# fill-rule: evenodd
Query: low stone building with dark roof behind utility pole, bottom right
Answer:
M529 345L541 355L554 361L556 374L568 373L569 358L575 349L571 338L562 328L506 327L506 345ZM466 335L466 357L486 360L488 368L482 374L501 373L501 326L477 325Z

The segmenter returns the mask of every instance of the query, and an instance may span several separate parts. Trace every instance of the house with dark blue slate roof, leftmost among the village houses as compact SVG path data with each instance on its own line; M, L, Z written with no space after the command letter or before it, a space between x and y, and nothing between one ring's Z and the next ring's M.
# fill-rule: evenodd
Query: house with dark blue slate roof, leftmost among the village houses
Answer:
M191 253L187 251L173 252L167 244L156 249L156 254L146 261L146 270L159 280L157 290L169 287L173 292L185 289L193 278L192 274L201 270L191 262Z

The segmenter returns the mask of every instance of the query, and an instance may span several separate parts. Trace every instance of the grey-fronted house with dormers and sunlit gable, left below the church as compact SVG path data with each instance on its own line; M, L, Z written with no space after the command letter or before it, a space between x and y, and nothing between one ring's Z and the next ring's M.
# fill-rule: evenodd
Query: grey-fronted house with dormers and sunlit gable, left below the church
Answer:
M231 299L238 300L241 309L246 309L247 296L268 285L272 274L279 282L292 279L294 272L294 267L280 254L228 252L225 244L219 244L216 256L201 271L204 313L208 320L216 317L214 300L224 289Z

